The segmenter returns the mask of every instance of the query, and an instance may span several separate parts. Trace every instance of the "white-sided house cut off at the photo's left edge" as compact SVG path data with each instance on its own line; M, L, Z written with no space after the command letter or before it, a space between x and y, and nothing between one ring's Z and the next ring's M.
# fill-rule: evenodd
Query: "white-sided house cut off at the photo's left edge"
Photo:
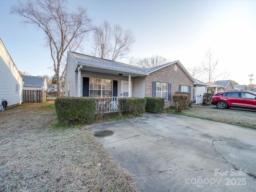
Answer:
M10 54L0 39L0 102L8 101L8 106L22 104L24 81L16 68Z

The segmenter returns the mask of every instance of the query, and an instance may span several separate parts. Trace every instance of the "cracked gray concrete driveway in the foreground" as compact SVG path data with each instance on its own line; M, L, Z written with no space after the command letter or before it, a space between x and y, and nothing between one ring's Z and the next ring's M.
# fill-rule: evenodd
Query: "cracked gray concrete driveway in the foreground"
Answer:
M142 192L255 191L256 130L175 114L87 126Z

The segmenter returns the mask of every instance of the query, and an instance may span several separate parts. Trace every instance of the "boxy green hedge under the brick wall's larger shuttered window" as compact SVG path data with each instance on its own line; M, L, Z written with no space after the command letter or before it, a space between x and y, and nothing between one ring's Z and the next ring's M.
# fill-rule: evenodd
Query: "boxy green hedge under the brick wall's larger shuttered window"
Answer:
M164 110L164 98L156 98L156 97L145 97L146 102L146 112L150 113L160 113Z

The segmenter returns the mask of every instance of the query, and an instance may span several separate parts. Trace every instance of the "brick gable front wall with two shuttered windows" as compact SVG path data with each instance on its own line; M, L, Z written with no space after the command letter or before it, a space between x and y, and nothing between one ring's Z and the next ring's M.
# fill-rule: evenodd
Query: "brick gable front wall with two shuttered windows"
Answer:
M174 69L174 66L177 66L177 70ZM191 86L191 99L193 98L194 83L188 77L188 75L182 70L182 68L180 68L180 66L176 63L166 66L162 69L156 70L155 72L150 73L150 75L146 77L146 97L152 97L153 81L171 83L171 95L173 95L176 91L179 91L179 85ZM174 105L175 104L172 101L172 98L170 101L164 102L164 108L168 108Z

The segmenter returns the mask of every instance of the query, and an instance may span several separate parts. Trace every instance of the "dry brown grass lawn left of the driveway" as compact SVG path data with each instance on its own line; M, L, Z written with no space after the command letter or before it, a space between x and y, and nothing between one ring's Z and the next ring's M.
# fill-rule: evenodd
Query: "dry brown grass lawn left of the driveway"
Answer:
M59 126L49 101L0 112L0 191L138 189L84 126Z

